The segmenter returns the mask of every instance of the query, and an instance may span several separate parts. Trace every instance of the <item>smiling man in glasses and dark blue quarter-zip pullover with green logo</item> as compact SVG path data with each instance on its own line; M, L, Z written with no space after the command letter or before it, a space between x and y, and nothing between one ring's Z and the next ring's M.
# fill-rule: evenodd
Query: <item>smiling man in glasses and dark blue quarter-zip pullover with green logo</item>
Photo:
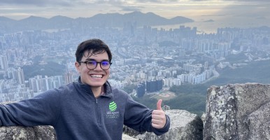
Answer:
M150 110L108 83L111 50L99 39L80 43L75 66L78 82L43 92L33 99L0 105L0 125L52 125L57 139L121 140L123 125L157 135L169 130L161 109Z

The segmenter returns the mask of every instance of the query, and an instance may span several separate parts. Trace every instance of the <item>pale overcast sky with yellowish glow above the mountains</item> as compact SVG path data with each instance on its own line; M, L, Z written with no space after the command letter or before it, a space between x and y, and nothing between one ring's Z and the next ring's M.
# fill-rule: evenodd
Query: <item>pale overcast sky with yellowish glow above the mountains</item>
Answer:
M87 18L98 13L123 14L134 10L164 18L258 21L270 26L270 0L0 0L0 16L15 20L31 15Z

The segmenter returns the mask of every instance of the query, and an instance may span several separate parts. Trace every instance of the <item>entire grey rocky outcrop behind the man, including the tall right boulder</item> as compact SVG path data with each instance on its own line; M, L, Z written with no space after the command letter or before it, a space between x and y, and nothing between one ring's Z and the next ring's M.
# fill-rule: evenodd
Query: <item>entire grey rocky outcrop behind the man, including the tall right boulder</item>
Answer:
M171 127L166 134L139 134L124 127L122 140L267 140L270 139L270 85L211 86L208 88L206 113L202 118L183 110L166 110L165 113L171 118ZM0 139L56 138L50 126L17 126L0 127Z

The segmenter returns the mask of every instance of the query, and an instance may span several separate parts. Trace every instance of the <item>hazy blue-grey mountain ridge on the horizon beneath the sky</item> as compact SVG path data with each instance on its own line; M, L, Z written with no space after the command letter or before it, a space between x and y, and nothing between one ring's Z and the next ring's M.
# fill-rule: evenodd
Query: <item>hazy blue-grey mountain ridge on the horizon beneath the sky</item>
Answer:
M44 29L71 29L74 27L124 27L132 25L136 27L156 25L176 25L186 22L194 22L190 18L177 16L175 18L163 18L155 13L106 13L97 14L89 18L69 18L56 15L52 18L29 16L21 20L0 17L0 33L15 31L44 30Z

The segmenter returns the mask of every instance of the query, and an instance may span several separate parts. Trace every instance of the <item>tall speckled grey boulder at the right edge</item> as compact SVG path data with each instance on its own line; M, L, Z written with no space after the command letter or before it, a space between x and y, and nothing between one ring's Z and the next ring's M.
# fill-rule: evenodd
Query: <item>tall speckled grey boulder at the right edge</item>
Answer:
M206 101L204 139L270 139L270 85L211 86Z

